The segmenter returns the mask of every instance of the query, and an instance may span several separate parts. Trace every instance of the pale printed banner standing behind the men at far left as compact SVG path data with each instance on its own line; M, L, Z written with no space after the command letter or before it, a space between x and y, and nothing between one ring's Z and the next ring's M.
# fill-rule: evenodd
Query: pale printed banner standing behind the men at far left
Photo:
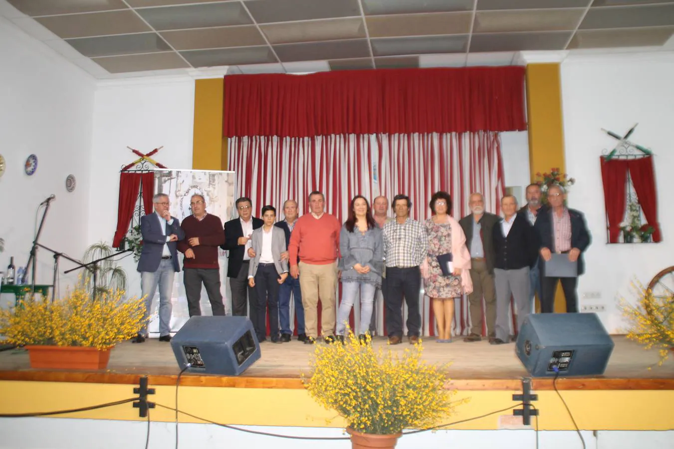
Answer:
M231 171L196 171L196 170L156 170L154 172L154 191L156 193L166 193L171 202L171 215L179 218L181 222L186 216L191 215L189 200L195 193L199 193L206 199L206 211L209 214L217 215L223 224L231 219L234 210L235 196L235 176ZM220 278L222 279L222 299L224 300L225 311L231 314L230 295L227 292L226 285L227 258L225 251L218 250L218 259L220 262ZM183 257L179 254L180 266L183 267ZM171 330L179 330L189 319L187 312L187 299L185 297L185 286L183 285L183 272L175 276L173 282L173 317L171 318ZM150 318L150 332L158 332L157 307L159 303L158 295L155 295L155 306L153 307ZM202 288L202 313L211 315L210 303L206 290Z

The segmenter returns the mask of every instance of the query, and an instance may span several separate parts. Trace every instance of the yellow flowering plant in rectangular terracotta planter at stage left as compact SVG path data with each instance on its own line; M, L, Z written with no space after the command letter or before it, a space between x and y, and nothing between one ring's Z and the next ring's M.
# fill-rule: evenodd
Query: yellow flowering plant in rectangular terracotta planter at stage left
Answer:
M114 291L92 300L81 287L54 302L26 296L0 310L0 334L25 345L33 368L104 369L111 349L133 338L143 322L142 299Z

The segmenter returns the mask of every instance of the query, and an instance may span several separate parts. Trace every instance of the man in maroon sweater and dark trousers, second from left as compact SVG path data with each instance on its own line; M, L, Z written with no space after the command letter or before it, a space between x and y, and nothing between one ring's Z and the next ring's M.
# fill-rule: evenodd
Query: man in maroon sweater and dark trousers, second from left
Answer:
M192 214L181 224L185 239L178 242L178 250L185 254L183 283L189 316L202 314L202 282L206 287L213 315L224 316L218 264L218 247L224 243L222 221L206 212L206 200L203 196L193 195L189 204Z

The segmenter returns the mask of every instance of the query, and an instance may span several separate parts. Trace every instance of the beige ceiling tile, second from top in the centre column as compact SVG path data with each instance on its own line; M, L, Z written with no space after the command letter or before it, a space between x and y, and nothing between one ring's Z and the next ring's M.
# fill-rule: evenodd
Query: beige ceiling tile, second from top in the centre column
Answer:
M366 36L365 24L361 18L284 22L260 25L259 28L272 44L355 39Z

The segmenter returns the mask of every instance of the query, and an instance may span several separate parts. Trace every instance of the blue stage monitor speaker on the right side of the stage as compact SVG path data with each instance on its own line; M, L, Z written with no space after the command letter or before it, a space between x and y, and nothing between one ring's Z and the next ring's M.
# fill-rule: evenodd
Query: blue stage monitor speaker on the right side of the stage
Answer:
M596 313L532 313L522 324L515 352L534 377L603 374L613 340ZM555 370L556 369L556 370Z

